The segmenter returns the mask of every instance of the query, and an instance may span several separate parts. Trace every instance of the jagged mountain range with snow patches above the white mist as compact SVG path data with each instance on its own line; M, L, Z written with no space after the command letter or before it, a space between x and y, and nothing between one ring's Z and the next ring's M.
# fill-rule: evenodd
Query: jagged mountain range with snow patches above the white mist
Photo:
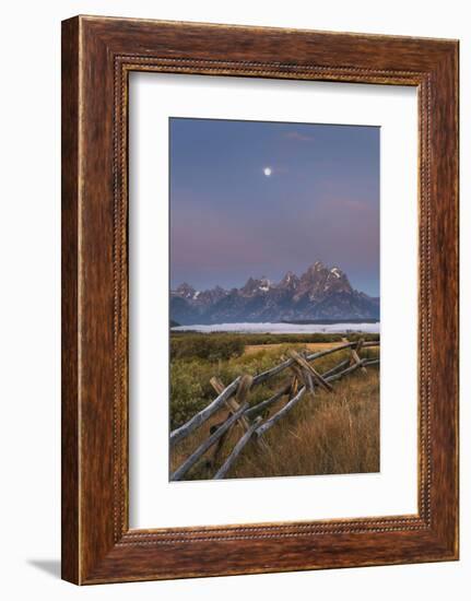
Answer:
M180 325L379 319L379 298L354 290L340 268L316 261L278 283L249 278L240 288L205 291L182 283L170 291L170 319Z

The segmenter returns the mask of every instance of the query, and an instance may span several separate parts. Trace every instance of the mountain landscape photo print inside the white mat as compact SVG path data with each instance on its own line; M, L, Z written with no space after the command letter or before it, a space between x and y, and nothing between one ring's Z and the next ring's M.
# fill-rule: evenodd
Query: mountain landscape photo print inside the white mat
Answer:
M380 127L170 117L169 480L380 471Z

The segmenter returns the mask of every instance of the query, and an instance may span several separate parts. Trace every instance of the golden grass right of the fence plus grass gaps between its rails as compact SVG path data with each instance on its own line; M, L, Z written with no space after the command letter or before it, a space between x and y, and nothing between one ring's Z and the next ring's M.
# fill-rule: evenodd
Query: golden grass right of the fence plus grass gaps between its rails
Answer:
M332 344L328 344L328 346ZM298 345L293 345L293 347ZM286 346L283 346L283 351ZM274 350L267 350L270 355ZM349 356L345 352L318 362L319 370L328 369ZM378 350L369 350L377 355ZM320 363L320 366L319 366ZM275 362L273 362L275 365ZM284 380L290 372L284 375ZM266 435L267 448L250 441L231 469L227 478L273 478L287 475L343 474L379 471L379 370L368 367L335 382L329 393L316 388L316 394L303 400ZM264 398L268 398L267 393ZM287 401L272 405L273 415ZM179 443L170 456L174 471L209 435L211 425L225 420L221 410L209 423ZM264 415L267 417L267 414ZM242 436L239 425L233 427L224 443L217 466L211 464L210 451L186 475L188 480L211 479L217 467Z

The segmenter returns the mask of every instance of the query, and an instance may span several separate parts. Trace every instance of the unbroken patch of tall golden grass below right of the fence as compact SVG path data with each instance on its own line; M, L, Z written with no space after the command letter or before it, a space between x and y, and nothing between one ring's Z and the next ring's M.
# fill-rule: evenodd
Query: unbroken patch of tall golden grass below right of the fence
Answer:
M246 449L229 478L379 471L378 370L356 373L333 393L316 389L267 433L268 450Z

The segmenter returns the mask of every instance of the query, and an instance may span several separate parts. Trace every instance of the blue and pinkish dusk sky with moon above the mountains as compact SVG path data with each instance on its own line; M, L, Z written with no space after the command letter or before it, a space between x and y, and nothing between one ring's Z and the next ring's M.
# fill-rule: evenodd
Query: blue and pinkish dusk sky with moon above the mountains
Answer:
M169 120L170 286L338 266L379 296L378 127Z

